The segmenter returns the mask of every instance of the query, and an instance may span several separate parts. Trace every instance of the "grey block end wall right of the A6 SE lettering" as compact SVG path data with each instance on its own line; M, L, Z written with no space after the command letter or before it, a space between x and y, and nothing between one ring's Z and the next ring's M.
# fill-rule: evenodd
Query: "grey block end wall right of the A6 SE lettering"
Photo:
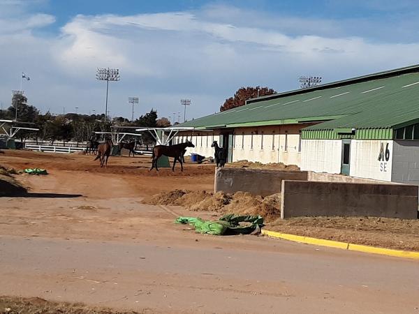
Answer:
M392 181L419 185L419 142L395 140L392 158Z

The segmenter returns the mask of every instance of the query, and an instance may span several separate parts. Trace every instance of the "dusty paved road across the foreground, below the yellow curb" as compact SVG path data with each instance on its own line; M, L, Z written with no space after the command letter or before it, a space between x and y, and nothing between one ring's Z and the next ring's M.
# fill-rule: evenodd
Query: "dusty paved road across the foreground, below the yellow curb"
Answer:
M260 250L2 236L0 294L150 313L419 313L417 261L253 239Z

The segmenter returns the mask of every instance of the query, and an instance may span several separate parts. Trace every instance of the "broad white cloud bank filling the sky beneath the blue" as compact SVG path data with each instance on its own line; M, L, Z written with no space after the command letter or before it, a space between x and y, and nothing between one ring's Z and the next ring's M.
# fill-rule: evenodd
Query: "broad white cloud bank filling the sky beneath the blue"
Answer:
M263 18L249 18L255 15ZM11 20L15 18L6 21ZM314 19L303 25L299 17L275 23L269 13L228 6L130 16L78 15L59 36L43 38L31 32L52 22L50 15L32 14L24 27L12 23L8 31L0 31L0 45L5 47L0 67L9 73L0 77L0 99L5 103L24 70L33 77L25 87L29 100L43 110L61 112L65 106L69 111L77 105L79 112L100 112L105 87L94 72L109 66L120 68L122 77L110 85L112 114L131 117L126 99L140 96L137 112L154 107L170 116L182 111L180 98L190 97L189 117L199 117L218 110L241 86L294 89L302 74L323 75L330 82L416 63L419 50L418 42L374 42L351 32L342 34L345 25L328 32L329 26L337 25L332 20L317 20L322 26L314 31L307 27ZM304 32L304 25L311 31Z

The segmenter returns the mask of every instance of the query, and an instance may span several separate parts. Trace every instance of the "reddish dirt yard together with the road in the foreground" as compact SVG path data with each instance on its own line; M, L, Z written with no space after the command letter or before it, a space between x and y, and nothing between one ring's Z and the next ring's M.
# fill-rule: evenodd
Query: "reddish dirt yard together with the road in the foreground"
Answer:
M140 200L211 190L212 165L152 174L129 167L144 158L111 157L108 169L91 159L0 155L51 173L17 176L32 194L0 197L0 294L147 313L419 313L417 261L195 234L175 216L212 213Z

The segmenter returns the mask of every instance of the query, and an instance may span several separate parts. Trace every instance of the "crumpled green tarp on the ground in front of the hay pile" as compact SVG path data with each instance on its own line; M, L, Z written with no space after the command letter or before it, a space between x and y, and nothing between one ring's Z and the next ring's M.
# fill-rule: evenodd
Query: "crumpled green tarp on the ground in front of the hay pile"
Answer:
M195 227L195 231L206 234L250 234L256 229L263 227L262 216L240 216L227 214L219 220L203 220L195 217L179 217L175 223L189 223ZM250 223L240 225L240 223Z

